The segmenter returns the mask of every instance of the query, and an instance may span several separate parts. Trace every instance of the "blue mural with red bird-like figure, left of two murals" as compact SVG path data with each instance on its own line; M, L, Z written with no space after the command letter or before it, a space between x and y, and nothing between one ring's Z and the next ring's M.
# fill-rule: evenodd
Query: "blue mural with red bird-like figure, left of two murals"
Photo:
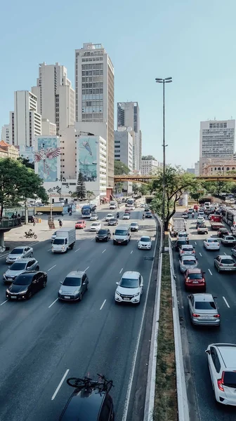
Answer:
M38 163L38 175L44 181L55 181L58 178L58 156L58 138L38 138L34 161Z

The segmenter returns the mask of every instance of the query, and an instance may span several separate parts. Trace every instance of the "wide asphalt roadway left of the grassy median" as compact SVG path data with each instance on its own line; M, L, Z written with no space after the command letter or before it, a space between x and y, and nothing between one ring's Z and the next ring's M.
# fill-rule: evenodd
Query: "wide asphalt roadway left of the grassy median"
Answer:
M99 220L108 212L98 212ZM96 243L89 221L86 229L77 230L76 245L65 255L53 255L50 241L37 243L34 257L48 272L48 284L29 301L5 302L6 286L0 283L1 421L58 420L72 393L66 378L96 373L113 380L116 420L122 420L152 268L152 260L145 258L153 256L156 239L155 220L143 221L142 214L131 212L140 231L131 234L127 246ZM138 250L142 234L152 236L152 250ZM0 259L0 277L7 269L5 259ZM59 302L60 281L74 269L86 269L89 290L81 302ZM114 305L115 283L126 270L144 278L138 307Z

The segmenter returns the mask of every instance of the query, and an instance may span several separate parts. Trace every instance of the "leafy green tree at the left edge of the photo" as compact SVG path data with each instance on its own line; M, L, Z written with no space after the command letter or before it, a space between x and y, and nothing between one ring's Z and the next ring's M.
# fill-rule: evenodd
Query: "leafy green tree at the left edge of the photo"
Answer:
M18 206L29 197L39 197L48 202L44 181L22 162L11 158L0 159L0 207Z

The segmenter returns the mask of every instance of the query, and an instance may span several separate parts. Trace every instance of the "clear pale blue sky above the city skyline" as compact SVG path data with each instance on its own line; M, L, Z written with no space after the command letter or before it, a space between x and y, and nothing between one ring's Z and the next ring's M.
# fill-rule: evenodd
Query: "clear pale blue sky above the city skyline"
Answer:
M143 154L162 161L162 86L166 160L199 158L199 121L235 118L235 0L4 2L1 5L0 126L13 92L30 90L38 64L60 62L74 86L74 49L101 43L115 70L117 101L138 101Z

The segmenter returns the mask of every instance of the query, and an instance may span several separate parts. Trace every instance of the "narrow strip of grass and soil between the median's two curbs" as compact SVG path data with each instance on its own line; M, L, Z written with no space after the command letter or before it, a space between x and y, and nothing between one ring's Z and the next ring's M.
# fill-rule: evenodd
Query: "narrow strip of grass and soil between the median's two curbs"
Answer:
M164 244L167 245L166 241L168 241L168 236L165 234ZM157 339L157 377L153 420L178 420L169 253L162 255L162 288Z

